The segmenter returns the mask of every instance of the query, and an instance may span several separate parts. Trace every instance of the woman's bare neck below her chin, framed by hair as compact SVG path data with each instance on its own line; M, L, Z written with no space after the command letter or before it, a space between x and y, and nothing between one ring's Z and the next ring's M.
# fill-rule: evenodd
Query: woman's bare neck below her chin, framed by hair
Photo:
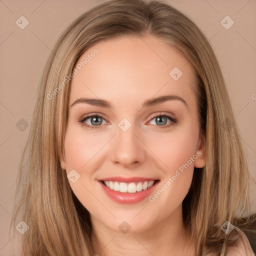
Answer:
M181 207L167 219L140 232L117 232L91 216L93 253L99 256L194 255L194 244L182 221Z

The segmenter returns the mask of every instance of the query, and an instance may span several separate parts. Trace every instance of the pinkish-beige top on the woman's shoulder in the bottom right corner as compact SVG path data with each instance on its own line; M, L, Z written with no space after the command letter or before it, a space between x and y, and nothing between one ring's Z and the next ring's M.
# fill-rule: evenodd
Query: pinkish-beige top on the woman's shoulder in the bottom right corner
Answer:
M246 235L236 226L234 229L238 234L238 239L236 245L230 246L226 256L254 256L250 243ZM212 254L207 254L205 256L213 256Z

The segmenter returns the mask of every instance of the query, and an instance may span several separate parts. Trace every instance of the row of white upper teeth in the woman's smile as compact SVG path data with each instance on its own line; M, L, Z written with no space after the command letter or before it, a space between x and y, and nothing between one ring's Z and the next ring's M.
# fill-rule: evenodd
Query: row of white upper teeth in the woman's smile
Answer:
M146 190L151 187L154 183L154 180L150 181L139 181L137 184L135 182L125 183L117 181L103 181L104 184L114 191L119 191L122 193L136 193L142 190Z

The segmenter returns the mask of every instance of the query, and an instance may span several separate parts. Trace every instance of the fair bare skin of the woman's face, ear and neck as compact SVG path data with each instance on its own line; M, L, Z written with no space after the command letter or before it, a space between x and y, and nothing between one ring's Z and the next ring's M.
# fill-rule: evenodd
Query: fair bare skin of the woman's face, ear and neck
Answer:
M181 203L194 167L205 164L196 97L191 89L193 71L183 56L159 38L142 38L109 38L78 59L77 63L95 48L99 51L72 78L60 162L66 173L75 169L80 175L69 184L90 212L94 253L192 256L194 243L189 242L190 234L182 222ZM183 73L177 80L169 75L174 67ZM142 107L144 101L164 95L182 99ZM82 97L104 99L111 107L73 104ZM82 126L79 120L93 113L103 116L98 117L101 124L87 118L83 123L95 128ZM161 125L155 116L164 114L176 122L163 117ZM131 124L126 131L118 126L123 118ZM153 202L148 196L136 203L116 202L99 185L98 179L103 177L149 177L159 180L153 195L198 151L200 155ZM130 226L127 233L118 228L123 221Z

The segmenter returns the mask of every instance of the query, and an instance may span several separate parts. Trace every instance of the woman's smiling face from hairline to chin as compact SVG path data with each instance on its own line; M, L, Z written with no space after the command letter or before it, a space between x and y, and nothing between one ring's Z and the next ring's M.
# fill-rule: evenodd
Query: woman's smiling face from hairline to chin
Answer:
M75 69L60 158L92 222L138 232L181 221L205 163L189 62L151 35L123 36L87 49Z

